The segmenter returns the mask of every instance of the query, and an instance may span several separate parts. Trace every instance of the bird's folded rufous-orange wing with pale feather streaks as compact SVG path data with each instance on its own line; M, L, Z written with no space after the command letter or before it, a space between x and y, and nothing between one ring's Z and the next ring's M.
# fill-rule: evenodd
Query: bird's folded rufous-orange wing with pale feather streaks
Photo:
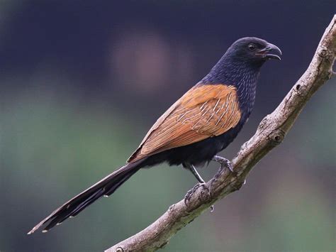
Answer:
M150 128L128 163L219 136L240 121L237 90L225 84L197 84Z

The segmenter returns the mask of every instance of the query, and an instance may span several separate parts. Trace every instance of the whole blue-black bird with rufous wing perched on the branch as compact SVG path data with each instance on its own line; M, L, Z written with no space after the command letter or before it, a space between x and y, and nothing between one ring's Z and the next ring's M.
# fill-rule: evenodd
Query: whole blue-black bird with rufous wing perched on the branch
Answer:
M201 81L191 87L145 135L125 165L57 208L31 229L43 232L75 217L100 197L113 194L142 168L160 163L182 165L204 184L196 167L211 160L233 171L230 161L217 155L237 136L249 118L262 65L281 60L281 50L255 37L235 41Z

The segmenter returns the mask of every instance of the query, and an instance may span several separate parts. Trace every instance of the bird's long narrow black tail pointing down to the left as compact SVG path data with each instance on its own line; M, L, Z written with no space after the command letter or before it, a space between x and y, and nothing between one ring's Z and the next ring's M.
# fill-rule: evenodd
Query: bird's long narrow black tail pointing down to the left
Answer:
M45 229L43 229L43 232L46 232L52 229L53 226L61 224L62 221L65 221L65 219L75 217L79 214L79 212L94 203L96 199L99 199L101 196L107 197L111 195L123 184L123 182L128 180L133 174L135 174L135 172L138 172L140 169L140 163L142 163L140 161L142 160L135 163L128 163L107 177L104 177L84 192L81 192L76 197L70 199L68 202L63 204L62 207L57 208L47 218L43 219L43 221L34 226L28 234L33 234L33 232L39 229L40 226L43 226L48 222Z

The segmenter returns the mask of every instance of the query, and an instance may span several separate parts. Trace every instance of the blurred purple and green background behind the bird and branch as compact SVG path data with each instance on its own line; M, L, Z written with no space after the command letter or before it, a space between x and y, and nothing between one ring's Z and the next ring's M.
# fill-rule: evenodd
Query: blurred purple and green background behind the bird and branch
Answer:
M278 45L242 143L298 80L334 1L0 1L0 251L102 251L184 197L191 174L141 170L47 234L27 231L125 163L176 99L237 38ZM335 250L335 80L239 192L164 251ZM201 170L210 179L215 164Z

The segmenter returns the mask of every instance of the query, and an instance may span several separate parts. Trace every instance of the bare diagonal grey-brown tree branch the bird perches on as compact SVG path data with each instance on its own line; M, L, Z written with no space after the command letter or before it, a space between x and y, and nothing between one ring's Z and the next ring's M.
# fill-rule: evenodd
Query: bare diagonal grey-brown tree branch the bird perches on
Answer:
M325 30L306 72L273 113L262 119L250 141L242 145L232 162L235 172L228 169L218 170L215 177L206 183L206 187L198 187L187 205L184 204L184 200L173 204L146 229L106 251L155 251L162 248L179 229L193 221L212 204L239 190L253 166L284 140L306 102L332 77L335 53L336 16Z

